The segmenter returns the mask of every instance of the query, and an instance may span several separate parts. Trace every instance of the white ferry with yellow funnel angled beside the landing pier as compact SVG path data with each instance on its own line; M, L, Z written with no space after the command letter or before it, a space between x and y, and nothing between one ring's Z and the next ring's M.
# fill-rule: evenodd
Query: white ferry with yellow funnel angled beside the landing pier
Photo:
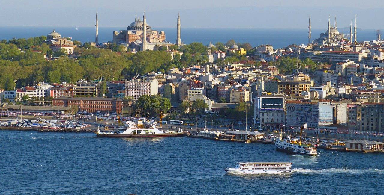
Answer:
M296 138L276 138L275 139L276 149L287 152L290 154L303 154L315 156L317 155L317 147L311 144L301 144L301 141L297 141Z

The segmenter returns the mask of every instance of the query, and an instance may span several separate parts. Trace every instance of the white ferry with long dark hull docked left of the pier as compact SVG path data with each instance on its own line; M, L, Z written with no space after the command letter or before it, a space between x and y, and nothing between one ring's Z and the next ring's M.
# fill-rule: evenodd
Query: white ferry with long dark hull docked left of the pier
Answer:
M108 138L155 138L155 137L178 137L185 136L186 132L179 131L161 131L157 129L156 124L150 125L147 128L137 128L136 125L127 124L126 128L121 128L122 131L117 133L102 132L99 129L95 132L98 137Z

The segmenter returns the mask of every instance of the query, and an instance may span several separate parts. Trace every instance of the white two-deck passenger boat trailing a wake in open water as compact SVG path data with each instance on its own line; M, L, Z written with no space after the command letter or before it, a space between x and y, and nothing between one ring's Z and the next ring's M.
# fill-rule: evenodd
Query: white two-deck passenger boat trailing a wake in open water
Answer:
M235 168L225 168L228 174L280 174L290 173L291 162L239 162Z

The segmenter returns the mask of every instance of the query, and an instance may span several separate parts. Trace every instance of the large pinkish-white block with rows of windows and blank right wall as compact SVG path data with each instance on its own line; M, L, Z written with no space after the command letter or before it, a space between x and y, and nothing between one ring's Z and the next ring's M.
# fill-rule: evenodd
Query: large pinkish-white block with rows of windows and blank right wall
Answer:
M142 95L157 95L159 82L156 79L125 80L125 96L132 96L137 100Z

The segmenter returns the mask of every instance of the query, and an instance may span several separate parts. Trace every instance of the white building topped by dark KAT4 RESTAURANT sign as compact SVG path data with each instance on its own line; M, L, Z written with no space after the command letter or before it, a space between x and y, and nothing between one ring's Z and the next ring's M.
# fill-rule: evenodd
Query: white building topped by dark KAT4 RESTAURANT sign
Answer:
M261 129L280 129L285 125L284 95L262 95L255 98L254 122Z

